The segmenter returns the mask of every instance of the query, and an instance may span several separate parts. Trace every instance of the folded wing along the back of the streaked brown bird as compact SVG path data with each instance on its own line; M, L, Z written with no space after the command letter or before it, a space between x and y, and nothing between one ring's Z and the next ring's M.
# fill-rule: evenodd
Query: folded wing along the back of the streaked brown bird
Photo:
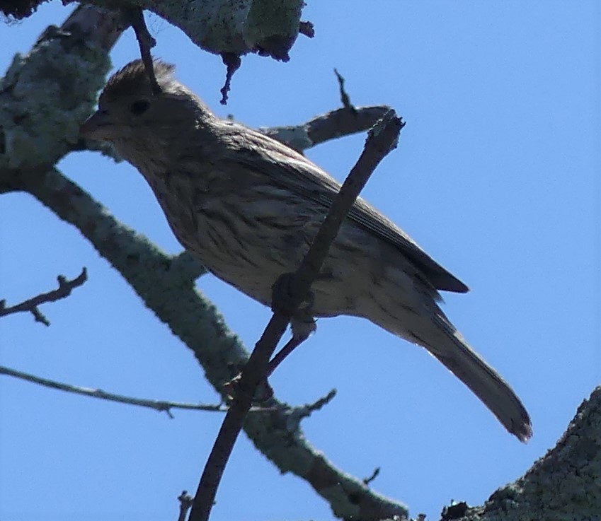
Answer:
M221 130L227 141L229 160L268 176L275 185L302 194L325 208L331 206L340 191L340 183L292 148L246 127L241 132L241 127L235 123L225 122ZM231 156L233 151L235 158ZM260 171L258 165L261 165ZM357 198L348 218L396 247L436 289L455 293L469 291L462 281L435 262L401 228L364 199Z

